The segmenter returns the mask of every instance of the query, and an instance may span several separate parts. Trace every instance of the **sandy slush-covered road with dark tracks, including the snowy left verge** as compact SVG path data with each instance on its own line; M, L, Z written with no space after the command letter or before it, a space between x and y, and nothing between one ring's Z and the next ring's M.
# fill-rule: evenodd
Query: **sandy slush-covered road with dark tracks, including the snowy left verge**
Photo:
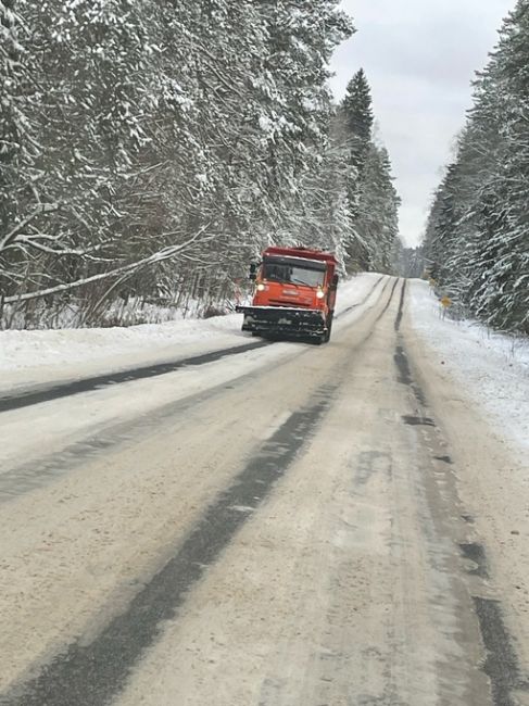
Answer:
M3 337L0 704L527 706L521 446L421 301L367 276L328 345L227 317L126 364Z

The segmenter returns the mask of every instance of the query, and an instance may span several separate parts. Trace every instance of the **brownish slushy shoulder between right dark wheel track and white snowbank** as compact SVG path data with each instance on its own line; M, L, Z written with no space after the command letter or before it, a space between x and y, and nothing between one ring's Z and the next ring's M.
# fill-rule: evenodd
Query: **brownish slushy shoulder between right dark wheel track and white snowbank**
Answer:
M442 352L412 325L410 311L403 330L414 375L450 447L462 517L473 545L482 547L487 564L482 596L499 605L513 636L518 661L529 658L529 477L522 454L443 363ZM464 335L462 332L462 335ZM476 557L475 557L476 558ZM479 613L479 610L478 610Z

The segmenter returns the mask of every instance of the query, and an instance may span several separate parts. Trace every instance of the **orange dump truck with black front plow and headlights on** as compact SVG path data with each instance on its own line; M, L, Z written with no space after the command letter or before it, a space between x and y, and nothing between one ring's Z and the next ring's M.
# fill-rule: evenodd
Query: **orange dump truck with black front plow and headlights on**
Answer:
M250 267L255 281L243 331L270 338L311 338L326 343L335 315L338 263L335 255L305 248L267 248Z

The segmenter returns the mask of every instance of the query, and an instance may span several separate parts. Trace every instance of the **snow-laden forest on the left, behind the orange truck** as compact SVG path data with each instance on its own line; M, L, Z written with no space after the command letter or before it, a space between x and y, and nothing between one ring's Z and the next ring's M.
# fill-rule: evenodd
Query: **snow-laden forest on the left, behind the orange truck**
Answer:
M270 243L390 272L368 80L351 67L338 105L329 88L355 31L338 4L0 0L1 327L206 312Z

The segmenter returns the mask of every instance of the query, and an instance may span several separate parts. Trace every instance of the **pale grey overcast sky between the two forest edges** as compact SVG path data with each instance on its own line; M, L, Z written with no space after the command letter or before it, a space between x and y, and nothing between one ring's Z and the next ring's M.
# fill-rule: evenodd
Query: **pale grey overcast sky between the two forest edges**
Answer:
M431 193L470 105L474 72L487 63L515 0L343 0L357 29L336 52L338 98L361 66L402 197L401 235L415 245Z

